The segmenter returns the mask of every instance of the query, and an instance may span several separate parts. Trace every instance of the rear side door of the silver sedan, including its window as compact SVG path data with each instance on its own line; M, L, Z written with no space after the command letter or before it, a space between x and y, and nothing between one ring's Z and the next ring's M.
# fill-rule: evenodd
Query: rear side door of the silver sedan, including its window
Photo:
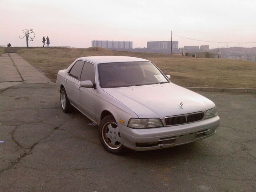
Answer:
M80 93L80 77L83 67L84 61L78 60L68 72L64 84L68 99L76 107L78 106L77 96Z

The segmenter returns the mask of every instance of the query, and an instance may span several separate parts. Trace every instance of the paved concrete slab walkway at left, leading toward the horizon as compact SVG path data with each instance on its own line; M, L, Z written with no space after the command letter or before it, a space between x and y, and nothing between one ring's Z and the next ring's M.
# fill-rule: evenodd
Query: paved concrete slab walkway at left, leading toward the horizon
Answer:
M0 90L21 83L52 83L16 53L0 56Z

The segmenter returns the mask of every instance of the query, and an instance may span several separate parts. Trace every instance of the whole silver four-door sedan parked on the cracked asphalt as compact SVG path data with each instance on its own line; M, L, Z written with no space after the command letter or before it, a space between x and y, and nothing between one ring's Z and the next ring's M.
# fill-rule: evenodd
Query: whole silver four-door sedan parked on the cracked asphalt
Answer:
M194 142L220 124L215 104L170 82L149 60L124 56L76 59L60 70L64 112L76 108L99 126L104 148L154 150Z

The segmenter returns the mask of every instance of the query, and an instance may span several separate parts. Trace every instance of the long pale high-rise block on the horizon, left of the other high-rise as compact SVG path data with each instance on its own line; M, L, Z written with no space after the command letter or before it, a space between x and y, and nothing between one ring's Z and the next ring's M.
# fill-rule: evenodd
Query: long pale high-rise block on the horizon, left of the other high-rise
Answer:
M92 47L102 47L106 49L132 49L132 41L93 40Z

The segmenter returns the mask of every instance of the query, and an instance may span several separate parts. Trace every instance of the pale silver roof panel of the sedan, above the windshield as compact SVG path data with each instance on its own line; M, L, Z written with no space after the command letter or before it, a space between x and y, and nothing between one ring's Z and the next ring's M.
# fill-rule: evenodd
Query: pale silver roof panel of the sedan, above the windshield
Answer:
M92 62L94 64L99 63L115 63L115 62L138 62L138 61L149 61L137 57L127 57L127 56L90 56L90 57L80 57L78 60L85 60Z

